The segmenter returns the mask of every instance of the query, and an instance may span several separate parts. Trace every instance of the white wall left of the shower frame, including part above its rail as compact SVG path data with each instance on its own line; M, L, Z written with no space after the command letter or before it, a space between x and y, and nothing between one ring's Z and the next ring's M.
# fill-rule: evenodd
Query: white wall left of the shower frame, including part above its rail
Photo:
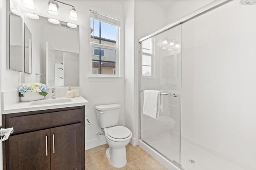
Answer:
M138 40L153 33L166 23L166 8L152 0L130 0L125 2L125 126L133 133L132 144L138 144ZM133 9L134 8L134 9ZM154 12L152 12L154 11ZM161 19L159 19L161 18Z

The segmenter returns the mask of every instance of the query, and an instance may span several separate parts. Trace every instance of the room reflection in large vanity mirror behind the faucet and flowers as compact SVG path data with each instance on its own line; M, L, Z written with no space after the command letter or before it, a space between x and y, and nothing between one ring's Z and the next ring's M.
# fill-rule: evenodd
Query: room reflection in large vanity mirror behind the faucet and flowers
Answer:
M43 16L38 20L25 16L24 20L32 39L32 63L29 59L25 63L25 68L32 68L32 74L25 74L25 83L79 86L79 27L70 28L62 21L52 24Z

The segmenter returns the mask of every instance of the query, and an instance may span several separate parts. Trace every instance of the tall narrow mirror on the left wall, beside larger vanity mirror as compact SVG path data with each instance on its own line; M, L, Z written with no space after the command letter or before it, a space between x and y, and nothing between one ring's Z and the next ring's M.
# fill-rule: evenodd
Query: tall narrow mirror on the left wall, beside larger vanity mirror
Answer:
M22 72L22 18L10 1L9 68Z

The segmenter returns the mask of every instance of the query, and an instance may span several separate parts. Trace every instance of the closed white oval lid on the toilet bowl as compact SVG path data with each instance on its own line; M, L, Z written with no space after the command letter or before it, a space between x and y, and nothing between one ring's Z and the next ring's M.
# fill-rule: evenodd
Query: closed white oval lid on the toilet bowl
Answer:
M109 128L107 133L108 136L116 139L124 139L131 135L131 131L128 128L122 126Z

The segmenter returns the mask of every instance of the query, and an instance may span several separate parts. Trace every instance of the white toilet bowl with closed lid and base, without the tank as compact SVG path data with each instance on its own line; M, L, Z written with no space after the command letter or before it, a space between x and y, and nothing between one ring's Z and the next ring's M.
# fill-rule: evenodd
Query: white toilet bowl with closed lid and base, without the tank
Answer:
M126 148L125 146L132 138L132 132L122 126L105 128L105 138L108 144L106 157L110 164L116 168L121 168L126 165Z

